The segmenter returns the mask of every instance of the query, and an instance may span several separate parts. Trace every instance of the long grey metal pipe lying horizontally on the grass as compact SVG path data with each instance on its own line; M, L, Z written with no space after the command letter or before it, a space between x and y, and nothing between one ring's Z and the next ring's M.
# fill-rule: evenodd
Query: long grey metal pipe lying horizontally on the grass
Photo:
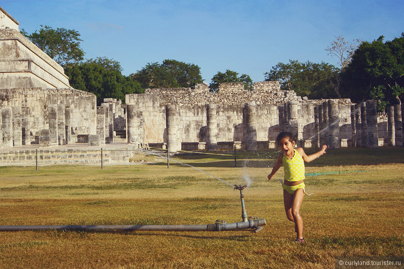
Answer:
M243 229L261 230L261 226L266 225L265 219L249 220L247 222L226 223L216 221L215 224L208 225L15 225L0 226L0 232L11 231L233 231Z

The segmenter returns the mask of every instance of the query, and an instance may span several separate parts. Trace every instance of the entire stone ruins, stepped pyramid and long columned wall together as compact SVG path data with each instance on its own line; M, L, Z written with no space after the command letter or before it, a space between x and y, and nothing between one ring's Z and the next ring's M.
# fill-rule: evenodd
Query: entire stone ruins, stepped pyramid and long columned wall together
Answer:
M121 100L70 87L63 68L19 32L0 8L0 147L127 143L178 150L277 147L280 131L305 147L401 146L402 108L377 115L376 102L309 100L277 81L147 89Z

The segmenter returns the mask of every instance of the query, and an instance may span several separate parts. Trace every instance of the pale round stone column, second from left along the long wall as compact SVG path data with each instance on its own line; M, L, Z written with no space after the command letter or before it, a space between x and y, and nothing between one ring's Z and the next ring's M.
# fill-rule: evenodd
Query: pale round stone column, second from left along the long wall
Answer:
M174 104L166 105L167 148L170 152L181 150L181 141L177 130L177 107Z

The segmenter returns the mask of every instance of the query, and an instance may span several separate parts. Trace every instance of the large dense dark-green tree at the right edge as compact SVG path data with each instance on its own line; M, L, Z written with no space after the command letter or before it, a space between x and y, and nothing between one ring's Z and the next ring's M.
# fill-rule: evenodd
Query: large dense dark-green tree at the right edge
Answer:
M404 33L392 41L364 41L342 73L345 94L355 102L378 100L378 111L404 97Z

